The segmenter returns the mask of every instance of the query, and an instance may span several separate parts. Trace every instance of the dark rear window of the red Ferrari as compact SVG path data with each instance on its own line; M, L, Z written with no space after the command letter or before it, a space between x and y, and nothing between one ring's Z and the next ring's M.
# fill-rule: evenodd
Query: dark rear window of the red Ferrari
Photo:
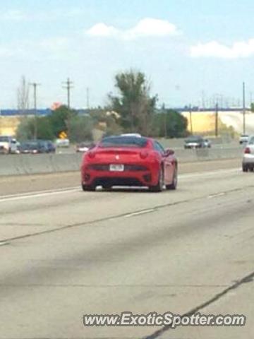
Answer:
M132 137L132 136L111 136L102 139L99 147L136 147L145 148L147 145L147 138Z

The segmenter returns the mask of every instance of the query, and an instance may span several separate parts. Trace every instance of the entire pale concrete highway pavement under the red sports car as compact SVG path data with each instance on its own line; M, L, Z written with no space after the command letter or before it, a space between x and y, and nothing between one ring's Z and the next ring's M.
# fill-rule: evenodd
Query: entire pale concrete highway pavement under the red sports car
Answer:
M0 338L253 338L254 174L183 164L179 189L0 179ZM245 314L241 328L84 327L84 314Z

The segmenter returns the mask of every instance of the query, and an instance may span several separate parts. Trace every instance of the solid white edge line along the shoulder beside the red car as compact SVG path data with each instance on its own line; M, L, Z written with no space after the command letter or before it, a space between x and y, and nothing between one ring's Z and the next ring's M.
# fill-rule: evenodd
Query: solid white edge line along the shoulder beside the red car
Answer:
M211 171L211 172L180 174L179 179L191 179L195 177L206 177L206 176L217 175L217 174L229 174L232 172L239 172L239 171L240 171L239 168L232 168L232 169L219 169L217 171ZM0 203L4 203L6 201L17 201L17 200L30 199L30 198L41 198L44 196L53 196L55 194L68 194L68 193L73 193L76 191L80 191L80 186L66 187L63 189L55 189L55 190L47 190L47 191L35 191L35 192L24 193L24 194L10 194L7 196L0 196Z

